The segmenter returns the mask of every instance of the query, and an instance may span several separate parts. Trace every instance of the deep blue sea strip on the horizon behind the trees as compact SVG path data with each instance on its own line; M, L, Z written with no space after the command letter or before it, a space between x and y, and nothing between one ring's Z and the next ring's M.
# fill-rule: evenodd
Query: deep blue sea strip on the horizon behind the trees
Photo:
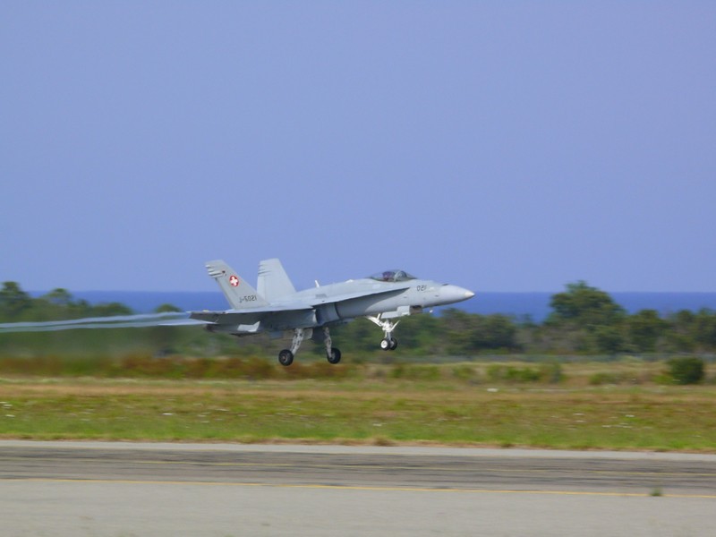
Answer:
M41 293L33 293L38 295ZM481 293L456 308L469 313L503 313L518 318L529 316L541 322L550 313L550 298L554 293ZM89 303L124 303L137 313L149 313L161 304L170 303L183 311L226 310L229 306L220 292L127 292L127 291L85 291L72 294L75 299ZM716 311L716 293L610 293L615 302L626 311L652 309L662 316L680 310L698 311L707 308ZM437 309L440 311L443 308Z

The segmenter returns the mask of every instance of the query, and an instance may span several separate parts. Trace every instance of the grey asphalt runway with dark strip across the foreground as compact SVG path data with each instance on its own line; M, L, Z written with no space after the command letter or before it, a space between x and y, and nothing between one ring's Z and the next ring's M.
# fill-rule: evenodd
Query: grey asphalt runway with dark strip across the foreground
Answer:
M716 456L0 441L0 535L711 535Z

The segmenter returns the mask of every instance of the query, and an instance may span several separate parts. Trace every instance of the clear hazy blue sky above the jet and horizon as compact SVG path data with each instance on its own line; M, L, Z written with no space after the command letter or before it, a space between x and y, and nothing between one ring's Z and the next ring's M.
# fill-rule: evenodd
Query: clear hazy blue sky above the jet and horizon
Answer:
M0 281L716 291L716 3L5 2Z

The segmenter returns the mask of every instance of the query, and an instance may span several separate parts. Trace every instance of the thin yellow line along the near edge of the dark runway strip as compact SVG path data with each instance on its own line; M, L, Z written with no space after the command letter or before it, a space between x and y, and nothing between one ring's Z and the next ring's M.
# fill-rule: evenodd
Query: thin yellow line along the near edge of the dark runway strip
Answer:
M198 485L201 487L263 487L273 489L314 489L314 490L368 490L385 492L440 492L466 494L539 494L554 496L602 496L624 498L650 498L649 493L636 492L597 492L588 490L491 490L491 489L431 489L429 487L370 487L360 485L320 485L291 483L250 483L250 482L192 482L192 481L141 481L107 479L53 479L53 478L17 478L0 479L2 482L45 482L45 483L103 483L124 485ZM716 499L716 494L661 494L660 498Z

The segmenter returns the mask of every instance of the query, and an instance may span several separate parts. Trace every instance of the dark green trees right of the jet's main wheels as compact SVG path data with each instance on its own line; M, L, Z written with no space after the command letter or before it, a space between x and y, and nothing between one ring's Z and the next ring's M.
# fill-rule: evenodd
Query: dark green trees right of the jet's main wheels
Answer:
M370 327L353 323L344 329L360 340ZM579 281L551 296L550 314L540 323L448 309L406 319L396 333L401 344L422 354L712 354L716 311L629 314L608 293Z

